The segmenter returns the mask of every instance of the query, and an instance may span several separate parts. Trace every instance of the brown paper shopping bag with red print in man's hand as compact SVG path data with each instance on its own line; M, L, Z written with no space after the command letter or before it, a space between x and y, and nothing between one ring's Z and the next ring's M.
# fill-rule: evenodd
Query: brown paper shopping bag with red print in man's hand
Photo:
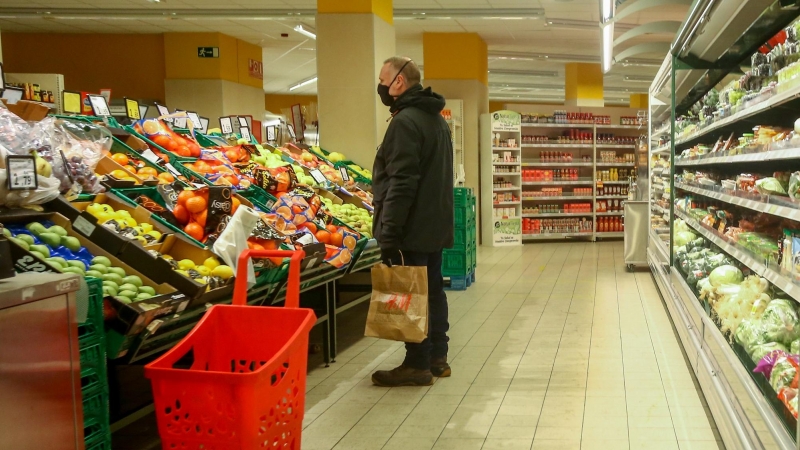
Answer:
M428 271L422 266L372 268L365 336L420 343L428 337Z

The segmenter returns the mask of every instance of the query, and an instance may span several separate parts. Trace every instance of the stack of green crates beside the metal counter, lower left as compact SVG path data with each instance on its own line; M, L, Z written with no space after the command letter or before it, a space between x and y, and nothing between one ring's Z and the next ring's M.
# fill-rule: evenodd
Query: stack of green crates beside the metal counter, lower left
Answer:
M86 278L89 312L78 324L83 398L83 438L86 450L111 450L106 343L103 331L103 282ZM79 291L78 295L85 294Z

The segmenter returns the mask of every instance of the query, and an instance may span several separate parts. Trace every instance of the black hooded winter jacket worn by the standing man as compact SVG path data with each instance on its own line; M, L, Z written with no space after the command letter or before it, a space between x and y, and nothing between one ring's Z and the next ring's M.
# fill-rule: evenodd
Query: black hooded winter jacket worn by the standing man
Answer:
M381 249L433 253L453 246L453 143L444 97L409 88L372 170L373 234Z

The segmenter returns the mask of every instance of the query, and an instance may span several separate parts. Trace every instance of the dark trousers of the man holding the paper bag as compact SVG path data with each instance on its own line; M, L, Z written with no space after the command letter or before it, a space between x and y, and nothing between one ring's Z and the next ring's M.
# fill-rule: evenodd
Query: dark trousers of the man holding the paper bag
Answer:
M407 266L428 268L428 338L419 344L406 343L406 359L403 365L414 369L429 370L431 358L447 356L447 331L450 329L447 313L447 295L442 280L442 251L417 253L403 251ZM392 261L399 264L400 261Z

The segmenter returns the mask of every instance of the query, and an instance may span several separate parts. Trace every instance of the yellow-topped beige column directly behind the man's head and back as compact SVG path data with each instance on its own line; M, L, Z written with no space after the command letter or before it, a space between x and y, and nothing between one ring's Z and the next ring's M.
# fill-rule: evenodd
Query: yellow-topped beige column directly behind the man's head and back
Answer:
M445 97L462 100L464 184L475 190L480 212L478 119L489 112L489 58L477 33L423 33L423 84ZM481 235L478 219L478 236Z

